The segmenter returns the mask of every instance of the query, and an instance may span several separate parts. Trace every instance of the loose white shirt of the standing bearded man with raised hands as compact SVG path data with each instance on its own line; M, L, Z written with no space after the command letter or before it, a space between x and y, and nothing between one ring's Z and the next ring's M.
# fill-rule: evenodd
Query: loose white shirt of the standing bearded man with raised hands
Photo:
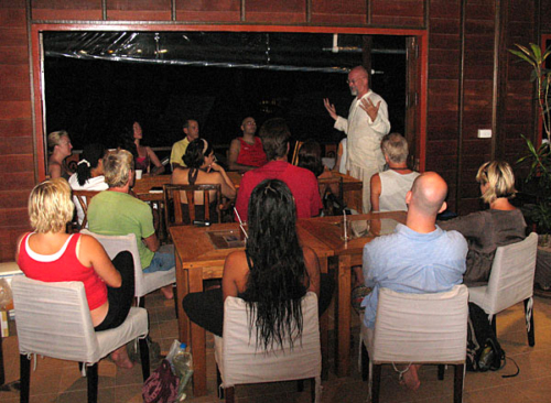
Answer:
M360 108L361 99L369 98L374 105L380 101L379 111L375 121ZM369 90L360 99L357 97L350 105L348 119L338 117L335 129L348 135L346 168L353 165L364 168L380 167L385 165L385 157L380 150L381 139L389 133L387 102L377 94Z

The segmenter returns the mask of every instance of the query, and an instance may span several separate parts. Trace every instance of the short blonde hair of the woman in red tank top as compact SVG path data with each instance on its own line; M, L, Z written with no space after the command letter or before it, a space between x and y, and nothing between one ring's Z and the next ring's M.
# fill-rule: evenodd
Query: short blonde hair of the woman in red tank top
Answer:
M29 218L39 233L65 232L74 210L71 187L62 177L37 184L29 196Z

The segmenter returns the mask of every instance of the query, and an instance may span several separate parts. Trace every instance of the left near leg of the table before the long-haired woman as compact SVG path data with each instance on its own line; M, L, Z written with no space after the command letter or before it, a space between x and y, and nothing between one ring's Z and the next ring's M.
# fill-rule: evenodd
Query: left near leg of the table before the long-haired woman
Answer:
M190 293L203 291L203 270L191 269L188 272ZM193 357L193 394L206 394L206 335L205 329L191 322L191 346Z

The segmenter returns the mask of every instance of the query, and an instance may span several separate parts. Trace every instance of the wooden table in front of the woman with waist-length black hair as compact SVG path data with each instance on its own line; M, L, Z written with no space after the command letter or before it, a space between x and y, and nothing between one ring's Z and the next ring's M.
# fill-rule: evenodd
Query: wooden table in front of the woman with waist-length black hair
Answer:
M203 280L222 279L226 257L244 248L217 249L208 232L234 231L239 236L239 226L235 222L215 224L210 227L182 226L170 229L174 241L176 258L176 306L179 314L180 340L192 347L194 373L193 392L195 396L206 394L206 346L205 329L190 322L182 307L182 299L193 292L203 291ZM333 251L325 243L305 229L298 227L299 240L302 246L312 248L320 258L323 273L327 272L327 258ZM321 318L322 357L327 350L327 313ZM327 366L325 364L324 368Z

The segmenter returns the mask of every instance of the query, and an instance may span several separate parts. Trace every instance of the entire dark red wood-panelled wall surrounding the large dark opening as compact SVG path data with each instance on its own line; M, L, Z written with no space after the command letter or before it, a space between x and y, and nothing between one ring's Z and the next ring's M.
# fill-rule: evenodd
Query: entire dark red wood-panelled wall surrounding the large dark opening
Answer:
M105 6L105 7L104 7ZM539 12L541 10L541 17ZM234 24L415 29L429 33L426 168L450 184L460 213L478 207L474 173L493 156L515 161L519 133L533 135L529 69L506 50L551 32L551 0L0 0L0 261L28 229L37 181L32 24L112 21L166 26ZM541 24L540 24L541 21ZM490 140L477 129L493 129Z

